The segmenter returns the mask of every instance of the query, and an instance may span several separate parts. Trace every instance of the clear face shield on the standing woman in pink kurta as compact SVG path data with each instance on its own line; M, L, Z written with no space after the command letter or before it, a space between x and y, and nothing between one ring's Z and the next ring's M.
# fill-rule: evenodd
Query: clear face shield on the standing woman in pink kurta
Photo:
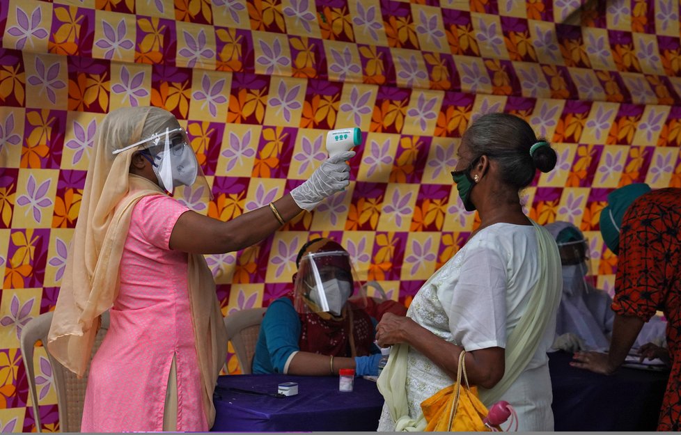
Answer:
M135 147L139 147L142 157L148 159L159 184L166 191L172 194L175 187L187 186L195 195L211 198L208 180L196 160L185 129L166 128L164 132L115 150L114 155Z

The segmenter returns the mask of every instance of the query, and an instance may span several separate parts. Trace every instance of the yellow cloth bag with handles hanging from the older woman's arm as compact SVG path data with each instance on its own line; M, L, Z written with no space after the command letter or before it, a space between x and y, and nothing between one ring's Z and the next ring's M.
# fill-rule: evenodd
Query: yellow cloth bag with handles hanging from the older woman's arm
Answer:
M428 425L425 432L490 432L483 418L487 416L487 408L478 399L478 388L468 384L466 363L461 351L456 382L442 388L428 399L421 402L423 417ZM463 374L465 386L461 384Z

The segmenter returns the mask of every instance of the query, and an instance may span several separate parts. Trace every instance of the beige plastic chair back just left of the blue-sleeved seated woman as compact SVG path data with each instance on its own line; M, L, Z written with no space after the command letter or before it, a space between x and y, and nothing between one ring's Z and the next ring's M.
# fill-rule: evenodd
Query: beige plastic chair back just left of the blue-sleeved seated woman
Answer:
M267 308L249 308L226 315L227 340L232 342L243 374L251 374L253 355Z

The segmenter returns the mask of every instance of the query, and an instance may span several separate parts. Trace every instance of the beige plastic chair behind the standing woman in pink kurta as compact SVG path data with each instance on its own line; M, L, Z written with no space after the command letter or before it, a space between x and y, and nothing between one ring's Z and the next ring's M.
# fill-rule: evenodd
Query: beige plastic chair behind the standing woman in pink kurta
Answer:
M38 409L38 393L36 392L36 372L33 368L33 351L36 347L36 342L42 342L45 347L49 365L52 367L52 376L54 377L54 389L57 395L57 406L59 409L59 425L61 432L80 432L80 424L83 419L83 406L85 402L85 389L88 383L89 367L81 379L75 373L68 370L61 365L54 357L47 351L45 343L47 343L47 333L49 326L52 324L52 311L44 313L31 319L29 323L22 329L21 336L21 351L24 359L24 367L26 368L26 377L29 380L29 392L31 394L31 402L33 402L33 415L36 421L36 430L42 432L42 425L40 423L40 410ZM99 349L104 340L104 335L109 330L109 312L102 313L102 325L100 326L97 335L95 336L95 343L93 345L93 355Z

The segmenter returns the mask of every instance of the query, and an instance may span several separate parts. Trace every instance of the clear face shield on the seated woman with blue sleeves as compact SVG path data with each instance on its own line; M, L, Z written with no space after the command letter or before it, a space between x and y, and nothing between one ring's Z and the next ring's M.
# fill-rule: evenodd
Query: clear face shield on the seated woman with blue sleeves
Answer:
M346 251L307 253L300 260L293 285L296 310L338 317L350 298L359 306L366 305L355 276Z

